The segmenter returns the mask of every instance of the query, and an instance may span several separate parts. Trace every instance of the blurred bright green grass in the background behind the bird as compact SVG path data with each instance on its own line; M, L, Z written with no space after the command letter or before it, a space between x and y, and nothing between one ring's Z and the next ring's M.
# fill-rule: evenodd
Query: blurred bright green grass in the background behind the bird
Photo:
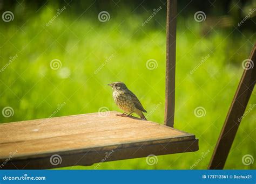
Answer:
M56 10L55 5L48 6L29 17L27 22L1 22L1 67L10 56L17 54L18 58L0 74L0 107L14 109L14 116L1 116L0 122L47 118L64 102L66 105L56 116L97 112L100 107L119 111L113 103L112 90L106 84L123 81L137 94L147 111L160 104L148 119L163 124L164 20L151 20L142 26L149 15L133 15L124 10L102 23L98 21L98 12L91 17L86 13L75 17L65 10L45 26ZM195 22L193 15L178 17L174 124L175 128L196 135L199 151L158 156L158 163L153 166L140 158L105 162L98 169L190 169L209 150L194 167L207 168L242 74L241 62L248 58L255 37L251 32L233 33L234 27L214 28L202 35L202 24ZM111 55L113 58L95 74ZM207 55L210 55L208 59L190 74ZM53 59L62 62L60 69L51 69ZM157 61L156 69L147 69L149 59ZM254 103L255 91L249 104ZM194 115L197 107L205 108L204 117ZM255 158L255 116L254 110L242 120L226 169L256 168L255 164L245 166L241 161L245 154Z

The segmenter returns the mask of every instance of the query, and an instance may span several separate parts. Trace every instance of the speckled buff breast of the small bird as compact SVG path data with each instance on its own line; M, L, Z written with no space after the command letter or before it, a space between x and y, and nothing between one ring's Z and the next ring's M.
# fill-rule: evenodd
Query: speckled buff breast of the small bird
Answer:
M135 107L130 95L126 95L123 91L113 91L114 102L125 112L133 112Z

